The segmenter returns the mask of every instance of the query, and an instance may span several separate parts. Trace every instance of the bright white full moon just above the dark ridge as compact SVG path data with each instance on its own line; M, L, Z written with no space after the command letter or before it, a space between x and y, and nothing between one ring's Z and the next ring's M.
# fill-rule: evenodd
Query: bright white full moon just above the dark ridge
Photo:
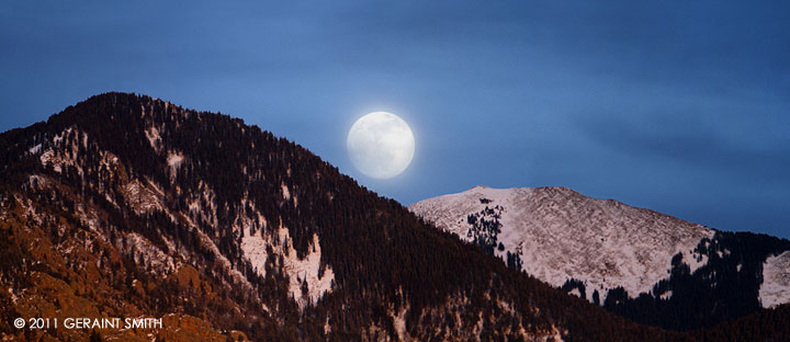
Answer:
M414 146L408 124L386 112L360 117L346 140L354 167L376 179L393 178L406 170L414 157Z

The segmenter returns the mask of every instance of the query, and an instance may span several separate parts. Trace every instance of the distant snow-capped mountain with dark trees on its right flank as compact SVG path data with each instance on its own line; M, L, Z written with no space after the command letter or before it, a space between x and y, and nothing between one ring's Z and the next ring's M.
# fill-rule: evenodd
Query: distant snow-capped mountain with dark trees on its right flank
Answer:
M508 265L639 322L689 330L790 301L790 241L716 231L566 187L409 206Z

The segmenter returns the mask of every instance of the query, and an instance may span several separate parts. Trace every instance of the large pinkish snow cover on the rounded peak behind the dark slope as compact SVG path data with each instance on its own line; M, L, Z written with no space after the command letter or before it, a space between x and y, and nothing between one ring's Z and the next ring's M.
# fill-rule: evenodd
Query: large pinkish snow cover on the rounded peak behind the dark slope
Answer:
M478 233L471 229L478 218L498 221L496 255L519 255L523 271L554 286L579 280L588 300L595 289L601 300L618 286L632 297L650 292L668 276L677 253L693 272L707 262L695 247L714 235L701 225L566 187L475 186L409 209L466 241Z

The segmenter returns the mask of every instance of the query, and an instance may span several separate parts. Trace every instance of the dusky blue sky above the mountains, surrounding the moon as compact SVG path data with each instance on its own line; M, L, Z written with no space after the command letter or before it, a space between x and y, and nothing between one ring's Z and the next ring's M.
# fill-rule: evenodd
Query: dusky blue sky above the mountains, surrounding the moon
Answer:
M790 237L787 1L75 2L0 2L0 130L137 92L241 117L404 204L556 185ZM417 141L384 181L345 147L374 111Z

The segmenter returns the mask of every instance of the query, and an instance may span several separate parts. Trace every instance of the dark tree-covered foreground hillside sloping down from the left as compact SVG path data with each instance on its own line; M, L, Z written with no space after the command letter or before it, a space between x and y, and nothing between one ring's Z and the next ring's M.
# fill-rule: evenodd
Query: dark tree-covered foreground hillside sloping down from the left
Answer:
M306 149L125 93L0 135L0 334L18 340L780 340L787 307L679 334L427 226ZM161 329L15 318L163 317Z

